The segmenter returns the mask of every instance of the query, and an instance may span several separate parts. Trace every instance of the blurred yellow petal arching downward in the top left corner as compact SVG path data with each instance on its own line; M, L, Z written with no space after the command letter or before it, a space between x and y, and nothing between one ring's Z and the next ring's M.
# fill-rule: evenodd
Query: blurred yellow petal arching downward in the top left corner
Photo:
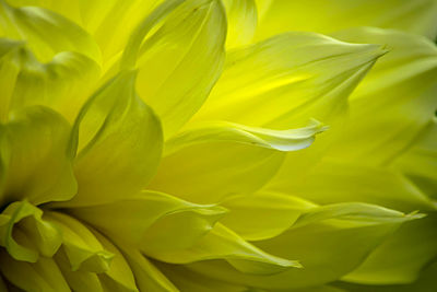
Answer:
M40 61L49 61L61 51L78 51L101 62L93 38L73 22L49 10L13 8L0 2L0 36L25 40Z

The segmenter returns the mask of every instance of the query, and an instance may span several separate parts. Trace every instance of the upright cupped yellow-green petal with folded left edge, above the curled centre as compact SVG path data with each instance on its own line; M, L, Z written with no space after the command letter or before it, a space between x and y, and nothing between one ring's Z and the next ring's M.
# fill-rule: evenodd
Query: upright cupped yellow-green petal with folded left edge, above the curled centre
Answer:
M80 189L62 206L115 201L141 190L156 171L162 151L160 120L134 92L135 72L121 72L82 108L74 174Z

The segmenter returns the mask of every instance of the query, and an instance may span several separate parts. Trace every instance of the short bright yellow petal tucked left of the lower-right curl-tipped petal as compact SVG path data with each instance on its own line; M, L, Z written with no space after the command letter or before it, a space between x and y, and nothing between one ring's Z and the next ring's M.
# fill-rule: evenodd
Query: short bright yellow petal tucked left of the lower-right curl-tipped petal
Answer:
M260 191L221 203L229 213L221 223L247 241L268 240L290 229L306 210L317 207L290 195Z

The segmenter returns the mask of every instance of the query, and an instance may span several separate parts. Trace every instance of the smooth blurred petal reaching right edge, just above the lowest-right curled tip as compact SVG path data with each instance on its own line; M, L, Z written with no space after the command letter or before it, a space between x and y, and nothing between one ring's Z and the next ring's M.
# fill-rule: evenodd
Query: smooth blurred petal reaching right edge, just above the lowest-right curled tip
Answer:
M405 212L435 211L436 206L395 170L324 161L306 176L273 179L268 189L326 205L361 201Z

